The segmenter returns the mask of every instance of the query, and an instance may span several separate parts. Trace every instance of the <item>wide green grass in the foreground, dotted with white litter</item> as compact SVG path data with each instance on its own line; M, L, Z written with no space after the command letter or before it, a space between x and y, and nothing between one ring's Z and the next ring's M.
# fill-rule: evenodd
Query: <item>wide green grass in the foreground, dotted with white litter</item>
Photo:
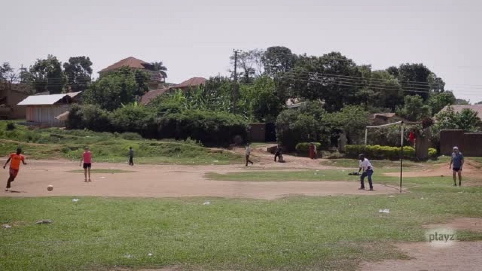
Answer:
M354 270L362 260L403 258L390 243L423 242L423 224L480 217L481 203L480 194L445 191L275 201L2 197L0 223L13 228L0 229L0 270ZM378 213L384 208L390 214Z

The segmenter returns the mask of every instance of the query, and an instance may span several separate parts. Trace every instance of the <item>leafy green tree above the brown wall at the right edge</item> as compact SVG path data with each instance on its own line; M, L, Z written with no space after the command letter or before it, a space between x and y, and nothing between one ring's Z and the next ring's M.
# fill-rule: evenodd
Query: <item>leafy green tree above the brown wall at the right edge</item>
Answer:
M476 132L481 124L477 112L469 108L455 112L453 107L449 107L435 115L435 119L435 127L439 131L442 129L461 129L467 132Z

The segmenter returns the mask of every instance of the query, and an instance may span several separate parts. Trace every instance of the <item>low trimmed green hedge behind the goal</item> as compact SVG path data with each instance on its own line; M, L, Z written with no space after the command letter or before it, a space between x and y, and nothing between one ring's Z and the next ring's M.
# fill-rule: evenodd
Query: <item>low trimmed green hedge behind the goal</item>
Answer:
M380 145L347 145L346 155L351 158L358 158L360 153L366 155L370 159L400 159L400 147L389 147ZM403 147L403 158L414 159L415 149L412 147Z

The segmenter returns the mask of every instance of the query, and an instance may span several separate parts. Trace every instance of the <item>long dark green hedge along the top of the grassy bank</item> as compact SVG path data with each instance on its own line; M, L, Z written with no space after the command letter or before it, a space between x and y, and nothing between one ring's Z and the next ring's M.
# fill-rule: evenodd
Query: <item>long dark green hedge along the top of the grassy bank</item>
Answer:
M73 105L66 126L95 132L131 132L155 139L190 137L210 146L225 146L235 136L247 135L246 122L237 115L204 110L160 114L153 109L130 105L108 112L94 105Z

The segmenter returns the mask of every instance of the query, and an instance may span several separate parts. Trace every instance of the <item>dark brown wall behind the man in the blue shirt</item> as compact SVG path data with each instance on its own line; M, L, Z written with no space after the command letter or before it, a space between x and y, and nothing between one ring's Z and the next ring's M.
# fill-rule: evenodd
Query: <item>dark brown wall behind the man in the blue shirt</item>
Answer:
M463 130L440 131L440 152L450 155L457 146L464 156L482 156L482 133L465 133Z

